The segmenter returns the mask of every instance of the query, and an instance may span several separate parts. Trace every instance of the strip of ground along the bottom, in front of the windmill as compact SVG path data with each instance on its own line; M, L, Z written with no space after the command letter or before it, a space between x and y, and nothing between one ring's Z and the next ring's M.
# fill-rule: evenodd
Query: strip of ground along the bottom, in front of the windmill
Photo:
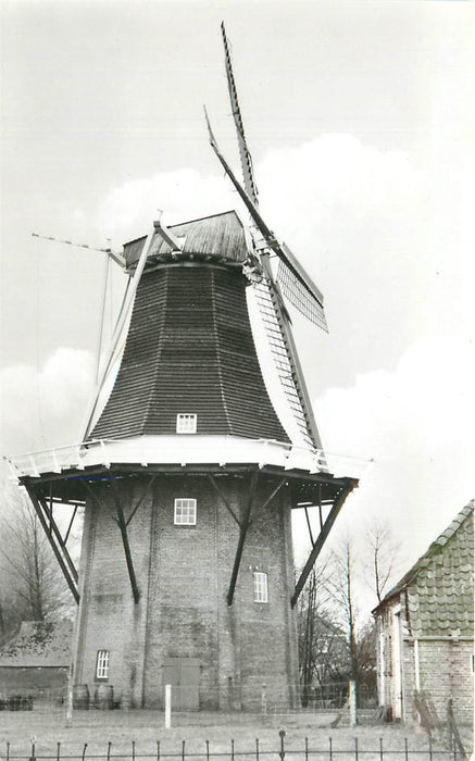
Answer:
M34 743L35 758L49 757L52 761L59 756L84 758L84 761L90 761L91 757L107 759L108 751L111 758L147 756L157 761L160 756L164 761L165 757L182 761L184 750L186 759L192 756L191 761L207 761L208 740L210 756L221 754L224 761L232 761L233 749L236 761L260 761L261 756L265 757L262 761L279 761L280 729L286 732L288 761L430 759L427 733L420 727L377 724L332 728L335 715L176 713L172 716L172 727L165 729L163 712L159 711L75 711L71 727L66 727L63 712L1 711L0 759L30 759ZM465 747L468 737L470 729L465 728ZM433 738L433 761L454 759L453 750L448 752L448 749L447 734L441 732ZM462 756L457 753L457 759L461 761Z

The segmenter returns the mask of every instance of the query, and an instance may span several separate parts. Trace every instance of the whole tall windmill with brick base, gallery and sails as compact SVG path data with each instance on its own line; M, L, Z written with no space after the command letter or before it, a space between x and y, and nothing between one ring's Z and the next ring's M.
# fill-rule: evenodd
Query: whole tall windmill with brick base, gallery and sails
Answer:
M166 684L182 709L258 708L264 683L267 704L296 704L296 603L358 484L322 450L285 300L326 329L323 297L259 211L222 33L243 185L208 121L210 142L251 226L235 211L158 220L125 244L129 286L84 440L11 461L78 602L74 685L124 707L161 706ZM66 534L59 504L73 510ZM77 569L67 537L79 506ZM297 584L293 510L311 537Z

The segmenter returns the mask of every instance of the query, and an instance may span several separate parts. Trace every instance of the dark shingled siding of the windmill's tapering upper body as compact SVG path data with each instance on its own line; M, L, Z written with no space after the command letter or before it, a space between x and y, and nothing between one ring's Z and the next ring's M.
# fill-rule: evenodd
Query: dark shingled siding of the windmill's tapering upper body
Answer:
M265 389L235 269L164 266L142 275L114 388L92 438L198 434L288 441Z

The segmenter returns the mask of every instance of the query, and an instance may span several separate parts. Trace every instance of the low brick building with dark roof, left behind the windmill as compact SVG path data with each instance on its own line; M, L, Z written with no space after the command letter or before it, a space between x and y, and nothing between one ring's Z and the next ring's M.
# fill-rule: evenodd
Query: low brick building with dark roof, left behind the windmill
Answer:
M64 694L72 636L72 621L24 621L0 647L0 697Z

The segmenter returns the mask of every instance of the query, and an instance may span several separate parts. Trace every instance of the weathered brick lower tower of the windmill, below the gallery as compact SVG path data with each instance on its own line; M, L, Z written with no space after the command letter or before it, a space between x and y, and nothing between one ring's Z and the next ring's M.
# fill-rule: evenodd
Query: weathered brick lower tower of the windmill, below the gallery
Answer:
M134 481L135 488L120 486L126 515L147 484L143 477ZM217 476L216 483L240 520L250 477ZM270 706L288 706L298 661L287 488L263 507L277 484L263 476L258 484L232 606L226 597L239 526L207 476L158 477L130 521L138 603L111 487L95 485L100 506L88 504L84 529L76 684L88 684L93 694L97 652L105 649L108 683L125 704L161 706L166 663L180 659L185 671L188 662L190 669L199 663L199 708L258 708L263 685ZM174 524L175 498L197 500L195 526ZM255 571L267 574L267 602L254 602Z

